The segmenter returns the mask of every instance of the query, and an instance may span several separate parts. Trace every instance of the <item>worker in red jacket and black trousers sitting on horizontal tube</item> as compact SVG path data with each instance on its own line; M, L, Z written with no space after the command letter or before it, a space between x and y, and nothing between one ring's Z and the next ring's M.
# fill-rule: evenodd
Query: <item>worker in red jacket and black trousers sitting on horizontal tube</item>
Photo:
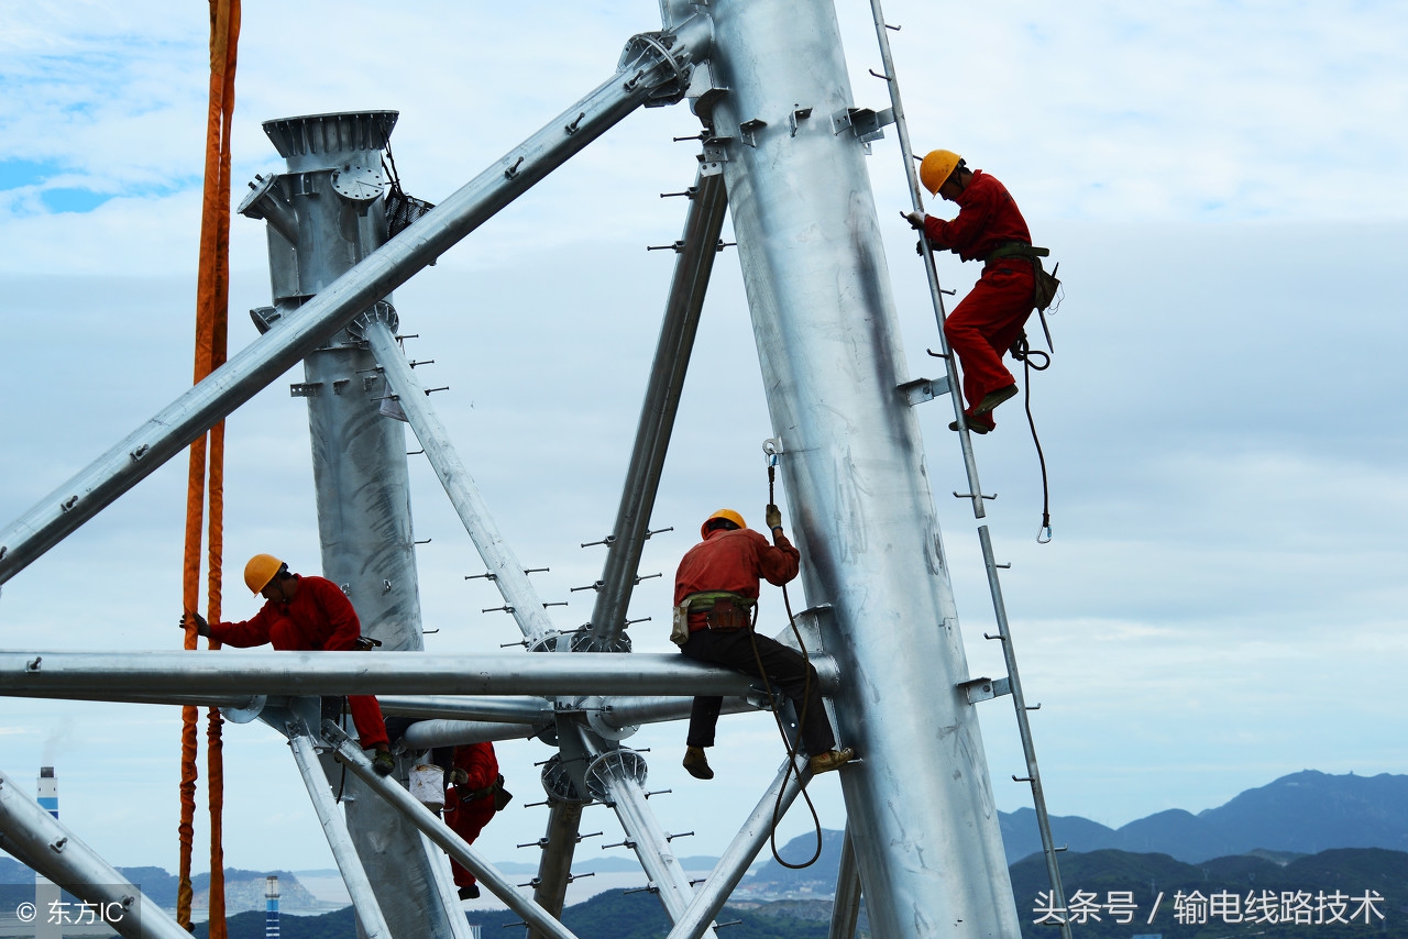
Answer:
M736 669L774 681L797 708L801 739L811 756L812 773L841 767L855 753L838 750L836 736L821 702L817 669L788 646L753 632L759 579L777 587L797 576L801 555L783 534L783 514L769 505L767 527L773 543L748 528L732 508L721 508L700 527L704 541L680 559L674 574L674 631L670 639L698 662ZM759 674L762 660L765 674ZM694 698L684 769L694 779L714 779L704 748L714 746L714 728L722 697Z

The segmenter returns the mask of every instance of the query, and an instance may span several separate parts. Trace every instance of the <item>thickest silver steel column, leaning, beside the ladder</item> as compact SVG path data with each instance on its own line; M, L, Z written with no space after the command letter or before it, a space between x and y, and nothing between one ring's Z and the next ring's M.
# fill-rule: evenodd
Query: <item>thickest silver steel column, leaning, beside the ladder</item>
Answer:
M829 0L715 0L714 134L825 650L872 929L1019 935ZM883 92L877 89L876 94ZM863 101L860 104L865 104ZM707 104L704 104L707 107Z

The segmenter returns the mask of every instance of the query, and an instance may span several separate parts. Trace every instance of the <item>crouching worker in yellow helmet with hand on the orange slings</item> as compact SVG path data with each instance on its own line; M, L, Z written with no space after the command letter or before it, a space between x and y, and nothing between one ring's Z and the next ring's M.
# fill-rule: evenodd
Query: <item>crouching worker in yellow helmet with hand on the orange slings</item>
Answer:
M265 643L282 652L342 652L359 648L362 622L356 618L352 601L331 580L290 574L289 565L273 555L255 555L245 565L245 584L268 601L252 619L211 625L199 612L191 612L196 632L241 649ZM183 614L183 629L186 624ZM396 759L387 745L382 707L370 694L352 694L348 695L348 710L362 748L376 749L372 767L379 776L390 774L396 769Z

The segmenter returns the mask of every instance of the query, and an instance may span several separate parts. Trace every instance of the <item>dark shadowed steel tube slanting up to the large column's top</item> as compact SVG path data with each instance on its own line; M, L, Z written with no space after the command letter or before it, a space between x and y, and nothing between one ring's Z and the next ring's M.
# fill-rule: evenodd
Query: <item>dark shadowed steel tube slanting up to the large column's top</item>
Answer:
M724 175L701 169L694 180L690 210L684 217L684 234L674 262L674 279L665 304L660 339L655 346L655 365L641 405L641 421L635 431L635 446L625 473L621 505L617 508L611 534L615 541L607 548L601 572L603 587L591 608L593 652L618 652L625 629L627 608L639 573L641 552L650 536L650 511L665 469L665 455L674 429L674 415L680 407L684 373L694 351L700 310L708 289L714 256L718 253L719 232L728 211Z

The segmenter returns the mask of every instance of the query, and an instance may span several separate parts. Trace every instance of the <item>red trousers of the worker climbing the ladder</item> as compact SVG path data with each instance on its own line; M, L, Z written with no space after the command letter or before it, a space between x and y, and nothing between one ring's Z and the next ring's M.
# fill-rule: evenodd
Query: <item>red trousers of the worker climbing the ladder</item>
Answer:
M1017 379L1002 365L1002 353L1021 335L1032 315L1036 273L1025 258L1000 258L983 267L983 276L953 315L943 324L949 348L963 367L963 397L967 418L993 427L993 415L973 417L973 408L987 394L1015 384Z

